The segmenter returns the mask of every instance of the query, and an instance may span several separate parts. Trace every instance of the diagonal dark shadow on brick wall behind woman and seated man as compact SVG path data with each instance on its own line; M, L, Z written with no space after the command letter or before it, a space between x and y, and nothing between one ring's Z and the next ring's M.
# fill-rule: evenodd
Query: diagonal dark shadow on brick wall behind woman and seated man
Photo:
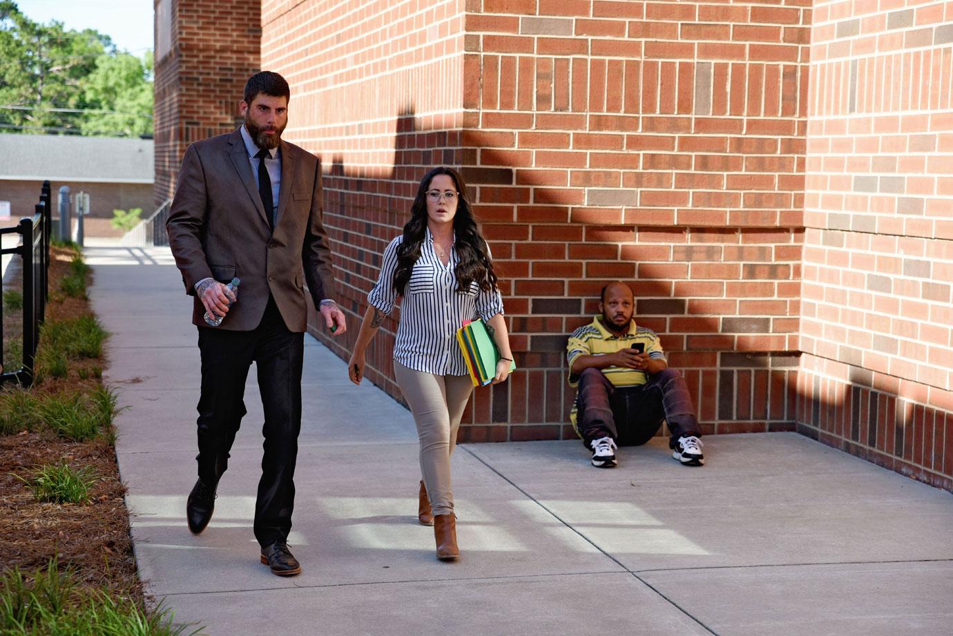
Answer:
M639 263L619 248L626 241L638 248L639 234L680 232L690 251L690 228L673 231L573 218L578 206L572 201L551 194L533 181L532 173L517 175L503 166L499 151L461 148L459 131L420 130L413 109L398 114L394 129L395 161L389 169L349 168L341 155L325 169L325 223L341 304L352 327L342 339L313 333L335 354L350 357L380 255L401 232L419 179L434 165L462 166L497 261L520 372L507 383L475 391L461 441L574 437L568 425L575 389L566 382L566 338L597 313L599 290L615 279L632 283L639 324L659 332L670 363L684 374L703 432L794 429L797 353L719 350L730 338L720 333L720 318L693 314L688 298L674 296L670 278L637 279ZM391 359L398 316L399 310L369 348L366 377L402 400ZM670 334L671 318L690 320L691 332Z

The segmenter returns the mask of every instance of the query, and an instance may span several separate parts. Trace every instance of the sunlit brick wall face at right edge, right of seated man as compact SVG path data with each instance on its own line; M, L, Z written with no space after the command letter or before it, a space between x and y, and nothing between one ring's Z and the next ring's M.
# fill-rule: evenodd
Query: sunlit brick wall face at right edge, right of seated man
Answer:
M815 5L801 430L953 488L953 3Z

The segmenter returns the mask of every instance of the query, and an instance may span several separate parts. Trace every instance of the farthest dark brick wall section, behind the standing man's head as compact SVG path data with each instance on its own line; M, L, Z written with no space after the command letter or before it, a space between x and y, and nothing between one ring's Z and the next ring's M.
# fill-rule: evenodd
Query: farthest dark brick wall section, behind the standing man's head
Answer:
M155 206L172 196L185 149L237 128L245 82L261 70L259 0L155 0ZM161 10L160 10L161 9ZM168 19L167 24L158 21ZM158 42L160 38L156 38ZM154 208L154 206L153 206Z

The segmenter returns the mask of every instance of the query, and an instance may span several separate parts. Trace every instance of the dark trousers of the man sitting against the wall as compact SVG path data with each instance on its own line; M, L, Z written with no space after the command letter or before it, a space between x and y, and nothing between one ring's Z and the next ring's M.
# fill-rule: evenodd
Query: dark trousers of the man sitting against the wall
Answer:
M577 422L586 448L610 437L619 446L638 446L659 432L661 421L672 433L669 446L682 435L701 437L695 407L684 378L674 369L651 376L640 386L616 387L594 368L579 376Z

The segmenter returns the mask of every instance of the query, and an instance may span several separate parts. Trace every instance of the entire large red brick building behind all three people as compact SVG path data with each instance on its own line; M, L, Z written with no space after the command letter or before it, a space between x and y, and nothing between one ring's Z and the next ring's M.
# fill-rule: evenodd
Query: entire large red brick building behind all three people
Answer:
M245 78L281 72L355 324L419 177L462 169L522 371L461 440L571 435L565 336L621 278L706 433L798 430L953 488L948 5L155 6L155 200ZM394 330L367 376L399 398Z

